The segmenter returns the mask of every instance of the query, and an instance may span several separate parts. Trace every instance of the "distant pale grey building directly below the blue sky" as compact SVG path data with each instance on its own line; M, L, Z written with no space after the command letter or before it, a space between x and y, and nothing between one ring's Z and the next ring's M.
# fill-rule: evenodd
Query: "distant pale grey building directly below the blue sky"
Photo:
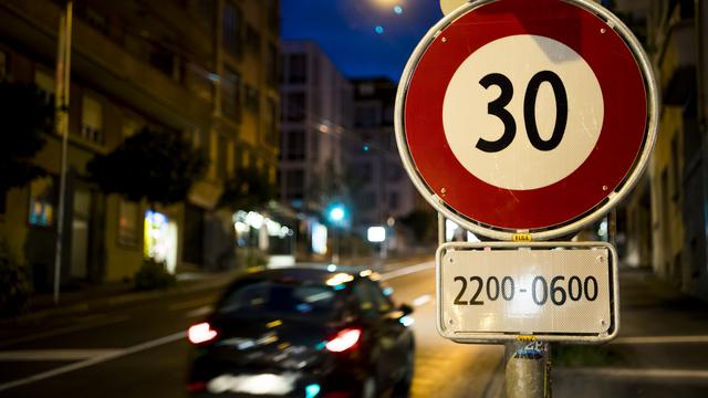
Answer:
M333 245L325 211L348 196L351 85L314 42L285 41L281 51L280 201L300 214L299 256L324 259Z

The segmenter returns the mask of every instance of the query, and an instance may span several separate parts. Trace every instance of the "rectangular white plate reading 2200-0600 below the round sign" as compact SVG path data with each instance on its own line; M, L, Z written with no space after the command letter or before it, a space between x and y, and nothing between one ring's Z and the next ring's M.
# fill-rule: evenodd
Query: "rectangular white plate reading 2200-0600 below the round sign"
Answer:
M520 335L548 341L614 337L614 248L521 244L446 243L438 249L440 334L468 342Z

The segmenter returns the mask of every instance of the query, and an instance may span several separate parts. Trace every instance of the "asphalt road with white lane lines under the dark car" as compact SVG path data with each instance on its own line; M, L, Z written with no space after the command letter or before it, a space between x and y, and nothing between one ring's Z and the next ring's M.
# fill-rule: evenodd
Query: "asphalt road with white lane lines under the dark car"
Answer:
M413 397L481 397L501 360L499 346L447 342L435 329L433 263L384 274L397 302L415 306ZM219 290L49 317L0 334L0 397L183 397L185 331Z

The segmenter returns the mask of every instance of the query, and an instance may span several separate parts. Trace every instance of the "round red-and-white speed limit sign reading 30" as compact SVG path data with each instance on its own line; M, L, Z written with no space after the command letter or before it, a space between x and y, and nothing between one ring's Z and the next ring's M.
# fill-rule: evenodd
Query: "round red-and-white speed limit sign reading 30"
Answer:
M657 103L646 54L602 7L476 1L408 61L396 138L414 184L447 218L493 239L550 239L631 190Z

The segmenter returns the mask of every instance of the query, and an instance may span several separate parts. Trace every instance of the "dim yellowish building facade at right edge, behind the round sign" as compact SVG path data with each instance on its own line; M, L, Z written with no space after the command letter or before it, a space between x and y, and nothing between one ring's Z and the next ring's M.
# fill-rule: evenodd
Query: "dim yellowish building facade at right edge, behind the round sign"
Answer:
M617 6L646 27L663 103L647 176L627 203L627 261L652 265L670 283L708 298L708 7L688 0Z

